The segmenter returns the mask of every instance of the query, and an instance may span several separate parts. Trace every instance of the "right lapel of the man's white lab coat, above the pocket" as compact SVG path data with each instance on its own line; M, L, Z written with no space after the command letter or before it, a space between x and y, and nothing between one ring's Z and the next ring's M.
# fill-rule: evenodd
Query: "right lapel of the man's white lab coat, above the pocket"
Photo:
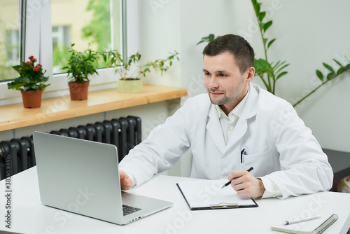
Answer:
M258 104L258 92L250 85L250 93L248 99L246 100L246 106L244 106L244 110L237 121L235 129L232 132L232 135L228 141L228 144L225 147L225 151L228 151L231 146L235 145L241 137L244 136L246 131L248 130L248 118L251 118L256 115L256 107ZM225 153L225 151L223 153Z

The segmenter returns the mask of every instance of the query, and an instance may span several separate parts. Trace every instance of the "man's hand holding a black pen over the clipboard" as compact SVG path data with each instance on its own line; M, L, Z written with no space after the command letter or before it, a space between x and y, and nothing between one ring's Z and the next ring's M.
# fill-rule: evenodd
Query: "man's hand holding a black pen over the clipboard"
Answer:
M265 192L261 179L255 178L247 171L233 171L228 180L238 195L246 195L249 198L260 198Z

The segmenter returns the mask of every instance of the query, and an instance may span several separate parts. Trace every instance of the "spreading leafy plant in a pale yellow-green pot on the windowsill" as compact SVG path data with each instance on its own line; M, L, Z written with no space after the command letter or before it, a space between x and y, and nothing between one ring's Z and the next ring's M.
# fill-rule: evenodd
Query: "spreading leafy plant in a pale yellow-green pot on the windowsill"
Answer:
M151 72L151 69L162 73L167 71L169 67L172 67L173 60L179 60L177 55L179 53L174 51L174 53L163 60L159 59L140 65L141 54L139 52L130 55L126 60L123 60L118 50L109 50L102 53L104 62L107 62L107 67L114 67L116 74L120 75L117 83L118 92L141 92L143 85L140 77L146 76L146 73Z

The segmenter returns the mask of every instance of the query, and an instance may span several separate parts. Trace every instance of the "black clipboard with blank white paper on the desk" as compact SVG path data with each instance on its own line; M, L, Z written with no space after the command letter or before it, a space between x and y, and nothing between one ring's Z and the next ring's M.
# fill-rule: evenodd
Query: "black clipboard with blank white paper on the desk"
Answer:
M176 184L191 210L258 207L253 198L237 195L231 187L221 188L227 180L181 181Z

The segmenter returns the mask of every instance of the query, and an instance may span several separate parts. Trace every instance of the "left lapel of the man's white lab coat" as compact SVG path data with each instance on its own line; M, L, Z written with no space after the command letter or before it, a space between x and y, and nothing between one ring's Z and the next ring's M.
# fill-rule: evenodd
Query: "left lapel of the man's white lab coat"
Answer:
M213 104L211 104L209 110L207 130L216 147L221 153L223 153L225 150L225 139L223 138L223 130L221 129L221 124L218 118L218 111L216 111Z

